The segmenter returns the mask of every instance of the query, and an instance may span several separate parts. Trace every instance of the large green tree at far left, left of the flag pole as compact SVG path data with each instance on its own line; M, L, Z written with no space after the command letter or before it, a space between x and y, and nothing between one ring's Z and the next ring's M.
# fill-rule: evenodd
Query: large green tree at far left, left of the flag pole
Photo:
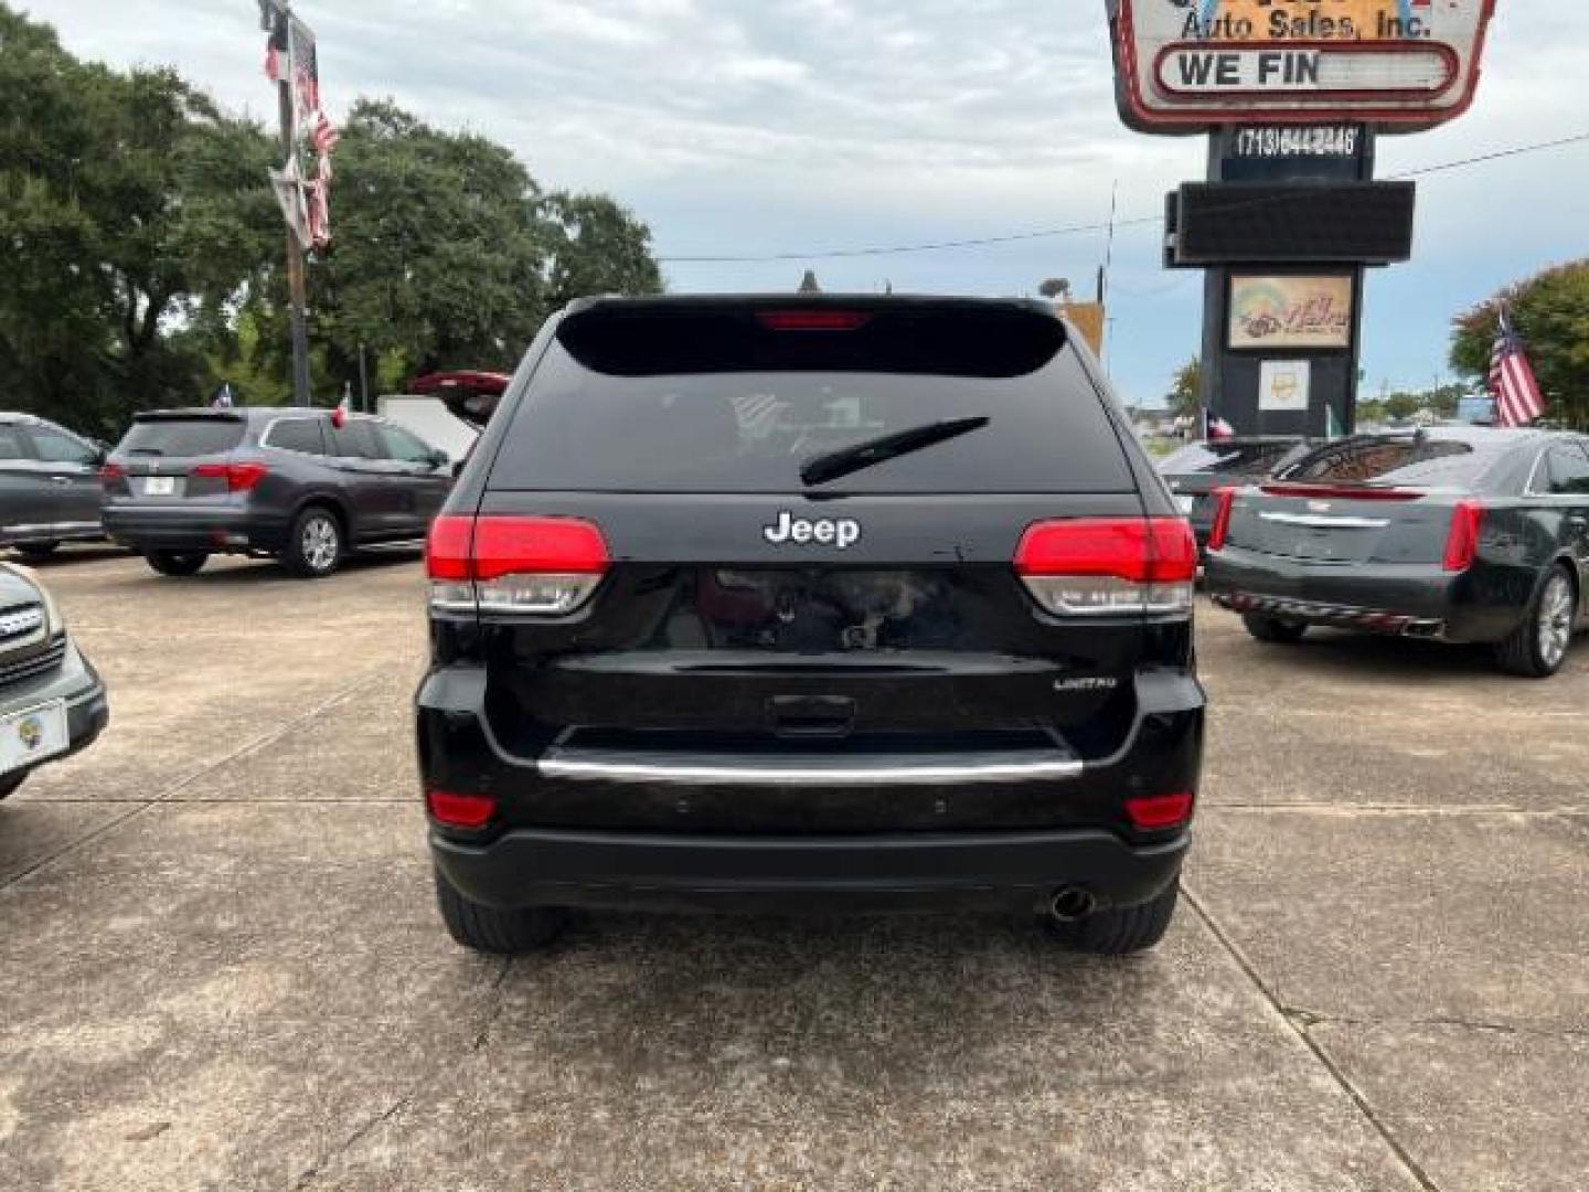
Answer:
M24 408L116 434L202 383L168 331L259 261L267 141L172 72L81 64L5 5L0 94L0 367Z

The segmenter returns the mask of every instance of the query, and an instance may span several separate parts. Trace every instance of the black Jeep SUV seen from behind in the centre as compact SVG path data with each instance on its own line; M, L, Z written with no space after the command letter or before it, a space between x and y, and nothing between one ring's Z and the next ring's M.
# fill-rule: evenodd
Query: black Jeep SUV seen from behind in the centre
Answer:
M429 540L442 915L1041 914L1158 941L1198 784L1197 548L1023 302L575 302Z

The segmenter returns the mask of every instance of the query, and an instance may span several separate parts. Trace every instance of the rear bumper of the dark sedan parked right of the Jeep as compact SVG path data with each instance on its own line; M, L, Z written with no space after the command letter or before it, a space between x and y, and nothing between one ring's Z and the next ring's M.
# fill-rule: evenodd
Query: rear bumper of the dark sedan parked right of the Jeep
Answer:
M1204 563L1209 598L1224 609L1368 633L1497 642L1522 607L1481 599L1475 574L1433 564L1319 564L1227 547Z

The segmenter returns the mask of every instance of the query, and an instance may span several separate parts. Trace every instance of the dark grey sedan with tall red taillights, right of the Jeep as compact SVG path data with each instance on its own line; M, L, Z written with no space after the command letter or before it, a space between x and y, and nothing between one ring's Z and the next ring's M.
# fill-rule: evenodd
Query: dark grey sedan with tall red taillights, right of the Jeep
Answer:
M1284 480L1220 490L1206 574L1260 641L1332 625L1484 642L1503 669L1545 679L1589 612L1589 439L1341 439Z

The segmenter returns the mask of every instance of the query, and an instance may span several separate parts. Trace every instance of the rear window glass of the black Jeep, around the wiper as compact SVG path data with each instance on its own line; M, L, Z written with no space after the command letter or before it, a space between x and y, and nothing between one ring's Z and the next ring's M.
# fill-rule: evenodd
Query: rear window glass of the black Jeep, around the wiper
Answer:
M491 474L494 488L801 491L814 458L926 424L987 424L817 486L836 493L1120 493L1131 472L1085 372L710 372L615 377L553 343Z

